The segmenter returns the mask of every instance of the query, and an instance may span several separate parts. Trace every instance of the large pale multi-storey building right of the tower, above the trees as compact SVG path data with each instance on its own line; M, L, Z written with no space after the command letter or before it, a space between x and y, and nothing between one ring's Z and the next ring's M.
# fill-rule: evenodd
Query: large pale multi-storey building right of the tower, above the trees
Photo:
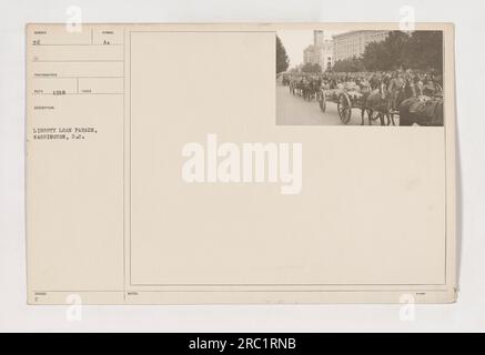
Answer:
M352 31L333 36L334 60L360 58L364 54L365 47L372 42L382 42L388 31Z

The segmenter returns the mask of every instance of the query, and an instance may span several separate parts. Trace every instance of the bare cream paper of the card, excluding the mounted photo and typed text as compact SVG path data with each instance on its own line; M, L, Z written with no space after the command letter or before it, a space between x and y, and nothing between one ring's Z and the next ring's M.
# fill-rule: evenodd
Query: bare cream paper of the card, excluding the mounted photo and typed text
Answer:
M452 27L421 26L445 31L445 128L276 126L274 31L315 26L92 26L123 33L121 64L85 70L121 72L124 94L67 95L55 114L29 109L28 64L28 140L34 120L98 130L28 142L29 301L454 301ZM302 193L185 184L180 151L208 133L302 142Z

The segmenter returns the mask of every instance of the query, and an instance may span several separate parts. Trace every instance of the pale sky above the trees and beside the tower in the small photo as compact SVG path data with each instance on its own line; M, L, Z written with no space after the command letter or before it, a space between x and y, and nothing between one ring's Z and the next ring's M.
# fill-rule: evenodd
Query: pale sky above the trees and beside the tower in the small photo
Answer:
M345 31L325 31L325 39L331 40L332 36L342 33ZM299 65L303 62L303 50L313 44L313 30L285 30L277 31L277 37L283 42L286 49L286 54L290 58L290 68Z

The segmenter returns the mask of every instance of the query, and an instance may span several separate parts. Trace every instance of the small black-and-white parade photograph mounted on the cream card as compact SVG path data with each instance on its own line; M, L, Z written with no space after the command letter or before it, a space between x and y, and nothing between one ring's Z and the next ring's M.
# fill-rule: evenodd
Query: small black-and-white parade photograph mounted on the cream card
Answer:
M443 32L276 32L277 125L444 125Z

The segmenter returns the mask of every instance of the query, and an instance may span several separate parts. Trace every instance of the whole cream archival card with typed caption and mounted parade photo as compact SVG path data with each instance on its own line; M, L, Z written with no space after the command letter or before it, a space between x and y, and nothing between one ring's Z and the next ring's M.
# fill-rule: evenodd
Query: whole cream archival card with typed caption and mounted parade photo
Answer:
M456 301L452 24L26 31L29 304Z

